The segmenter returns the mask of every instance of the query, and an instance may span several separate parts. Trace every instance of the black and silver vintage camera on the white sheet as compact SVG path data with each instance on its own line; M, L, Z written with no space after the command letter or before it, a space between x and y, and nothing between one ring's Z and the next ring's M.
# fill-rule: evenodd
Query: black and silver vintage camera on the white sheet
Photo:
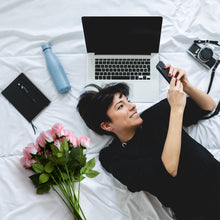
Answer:
M214 53L214 48L209 44L220 46L218 41L195 40L187 52L203 66L211 69L217 60L219 60L219 56L218 54Z

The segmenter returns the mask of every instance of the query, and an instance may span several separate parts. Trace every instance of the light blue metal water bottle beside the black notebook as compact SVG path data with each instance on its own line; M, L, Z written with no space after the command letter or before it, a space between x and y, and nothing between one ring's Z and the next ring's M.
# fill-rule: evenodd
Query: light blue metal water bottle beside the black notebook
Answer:
M41 47L45 55L47 69L53 79L57 91L59 93L68 92L71 89L69 80L67 79L59 59L53 53L50 43L44 43Z

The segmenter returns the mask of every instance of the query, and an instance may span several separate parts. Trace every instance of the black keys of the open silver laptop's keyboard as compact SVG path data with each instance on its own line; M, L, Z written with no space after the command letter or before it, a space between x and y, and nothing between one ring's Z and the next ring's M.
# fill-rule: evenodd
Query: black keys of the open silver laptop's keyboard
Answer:
M95 79L150 80L150 59L95 59Z

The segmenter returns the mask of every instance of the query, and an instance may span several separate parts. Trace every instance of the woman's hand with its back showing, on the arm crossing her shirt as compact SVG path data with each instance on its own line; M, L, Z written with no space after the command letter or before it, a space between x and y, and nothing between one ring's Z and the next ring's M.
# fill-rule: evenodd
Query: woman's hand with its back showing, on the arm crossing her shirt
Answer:
M170 81L170 89L168 90L167 99L171 109L184 111L186 105L186 94L183 91L183 84L177 78Z

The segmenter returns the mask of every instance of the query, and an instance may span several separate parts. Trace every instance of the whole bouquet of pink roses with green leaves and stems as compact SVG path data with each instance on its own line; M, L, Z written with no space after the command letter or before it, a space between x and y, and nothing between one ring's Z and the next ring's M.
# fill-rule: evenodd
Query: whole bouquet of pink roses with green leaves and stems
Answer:
M36 143L28 144L21 158L23 166L34 172L30 179L37 193L42 194L52 188L75 220L86 220L79 204L80 182L85 176L93 178L99 174L93 170L95 158L87 161L84 154L89 144L89 138L85 136L77 138L58 123L52 129L42 132ZM77 193L76 182L78 182Z

